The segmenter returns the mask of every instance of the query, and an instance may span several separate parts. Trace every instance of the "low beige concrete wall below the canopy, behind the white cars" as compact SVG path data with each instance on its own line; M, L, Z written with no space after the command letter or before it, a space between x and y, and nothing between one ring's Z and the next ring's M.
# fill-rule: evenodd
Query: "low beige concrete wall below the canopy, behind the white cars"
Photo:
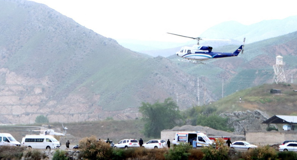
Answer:
M282 144L285 140L296 140L296 132L248 132L246 133L246 141L258 145L275 145Z

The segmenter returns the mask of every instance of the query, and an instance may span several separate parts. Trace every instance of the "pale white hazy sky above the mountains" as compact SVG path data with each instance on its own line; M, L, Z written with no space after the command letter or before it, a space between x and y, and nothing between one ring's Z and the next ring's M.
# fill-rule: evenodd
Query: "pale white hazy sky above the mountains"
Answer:
M297 15L293 0L33 0L112 39L188 41L225 21L244 25ZM232 27L232 26L230 26ZM211 38L211 37L206 37Z

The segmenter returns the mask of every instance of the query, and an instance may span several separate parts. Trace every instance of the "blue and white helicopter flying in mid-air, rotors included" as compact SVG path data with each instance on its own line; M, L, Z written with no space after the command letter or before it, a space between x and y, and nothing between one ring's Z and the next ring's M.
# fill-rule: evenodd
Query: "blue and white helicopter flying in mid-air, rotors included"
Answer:
M169 34L173 34L173 33L169 33ZM173 35L181 36L178 34L173 34ZM187 36L182 36L182 37L187 37ZM187 38L196 39L197 45L194 45L193 47L187 47L187 46L182 47L179 52L176 52L176 55L178 57L183 58L183 60L181 60L181 62L190 62L190 63L197 63L197 64L206 64L203 61L209 60L211 58L225 58L225 57L238 56L238 54L240 52L241 52L241 54L243 53L244 42L245 42L245 38L244 38L243 45L241 45L233 53L221 53L221 52L211 52L212 47L200 46L199 42L200 42L200 40L203 40L201 37L196 37L196 38L187 37ZM204 39L204 40L224 41L222 39Z

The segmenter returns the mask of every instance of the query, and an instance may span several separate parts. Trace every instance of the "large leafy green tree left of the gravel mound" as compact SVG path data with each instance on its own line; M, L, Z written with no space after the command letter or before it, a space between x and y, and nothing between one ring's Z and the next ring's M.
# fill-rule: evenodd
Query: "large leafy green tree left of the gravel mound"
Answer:
M182 119L177 104L171 98L165 99L164 103L156 102L153 105L142 102L139 112L146 121L144 135L147 137L160 137L163 129L175 127Z

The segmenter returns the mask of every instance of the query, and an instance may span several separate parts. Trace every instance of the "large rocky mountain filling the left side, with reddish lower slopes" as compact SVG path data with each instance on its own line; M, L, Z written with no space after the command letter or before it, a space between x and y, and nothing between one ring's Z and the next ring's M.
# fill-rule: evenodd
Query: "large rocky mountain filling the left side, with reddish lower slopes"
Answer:
M181 109L197 103L196 77L172 61L126 49L46 5L0 2L1 123L137 118L141 102L177 95Z

